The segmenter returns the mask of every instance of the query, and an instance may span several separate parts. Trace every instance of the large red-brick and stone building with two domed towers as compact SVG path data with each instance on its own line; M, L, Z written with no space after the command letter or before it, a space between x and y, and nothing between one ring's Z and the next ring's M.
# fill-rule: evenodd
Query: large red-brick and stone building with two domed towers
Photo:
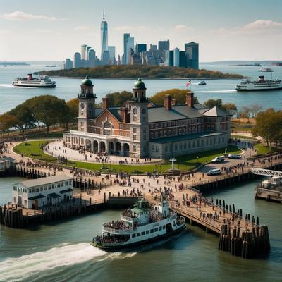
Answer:
M226 148L231 115L214 106L208 109L187 92L186 103L167 95L163 106L148 107L145 83L139 78L125 106L111 107L107 97L96 108L97 97L89 78L80 85L78 130L63 133L72 149L125 157L168 159L177 155Z

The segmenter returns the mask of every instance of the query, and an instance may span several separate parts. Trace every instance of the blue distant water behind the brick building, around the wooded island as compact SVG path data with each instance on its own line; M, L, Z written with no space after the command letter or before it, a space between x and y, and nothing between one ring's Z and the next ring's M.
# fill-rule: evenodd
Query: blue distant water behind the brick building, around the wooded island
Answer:
M248 77L257 78L259 76L259 67L240 67L202 64L200 68L207 68L215 71L228 73L240 73ZM30 71L41 71L44 65L33 64L31 66L0 66L0 113L4 113L20 102L24 102L31 97L52 94L66 101L77 97L80 92L80 79L72 78L55 78L57 87L54 89L38 89L26 87L13 87L11 82L14 78L25 77ZM45 68L56 69L56 68ZM269 73L265 73L266 77ZM274 67L274 78L282 78L282 67ZM104 80L94 79L94 92L97 94L97 102L101 101L109 92L131 91L135 80ZM147 86L147 97L161 90L171 88L185 89L185 80L145 80ZM192 80L192 90L200 102L207 99L222 99L223 102L233 102L240 109L242 106L252 104L261 104L264 109L273 107L281 109L282 90L265 91L265 92L236 92L235 85L240 80L206 80L207 85L199 86L200 80Z

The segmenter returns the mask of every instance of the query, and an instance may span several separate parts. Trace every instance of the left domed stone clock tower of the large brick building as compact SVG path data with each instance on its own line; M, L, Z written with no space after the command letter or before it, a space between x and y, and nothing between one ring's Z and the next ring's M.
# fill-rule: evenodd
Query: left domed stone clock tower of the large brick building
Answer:
M78 130L90 132L90 119L95 118L95 99L93 83L88 76L82 80L78 94Z

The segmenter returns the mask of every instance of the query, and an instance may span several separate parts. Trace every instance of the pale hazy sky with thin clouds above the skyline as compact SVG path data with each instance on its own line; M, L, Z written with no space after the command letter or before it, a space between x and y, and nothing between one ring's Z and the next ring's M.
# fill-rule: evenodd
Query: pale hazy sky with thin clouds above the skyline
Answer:
M0 61L64 61L81 44L101 53L103 8L109 45L200 44L200 62L280 60L282 0L0 0Z

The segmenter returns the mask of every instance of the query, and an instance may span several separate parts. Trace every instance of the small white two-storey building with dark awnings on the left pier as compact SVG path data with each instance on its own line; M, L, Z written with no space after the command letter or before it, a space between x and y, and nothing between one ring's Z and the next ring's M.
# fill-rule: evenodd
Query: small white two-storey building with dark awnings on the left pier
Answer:
M73 178L65 174L32 180L13 185L13 204L26 209L40 209L46 204L58 204L73 197Z

